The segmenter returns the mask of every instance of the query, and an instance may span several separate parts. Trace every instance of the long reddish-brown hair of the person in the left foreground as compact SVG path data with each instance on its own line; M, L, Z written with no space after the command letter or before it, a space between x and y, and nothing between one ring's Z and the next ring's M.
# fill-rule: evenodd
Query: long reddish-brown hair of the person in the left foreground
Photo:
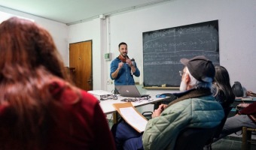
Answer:
M44 149L60 107L50 83L69 77L44 28L12 17L0 24L0 33L0 149Z

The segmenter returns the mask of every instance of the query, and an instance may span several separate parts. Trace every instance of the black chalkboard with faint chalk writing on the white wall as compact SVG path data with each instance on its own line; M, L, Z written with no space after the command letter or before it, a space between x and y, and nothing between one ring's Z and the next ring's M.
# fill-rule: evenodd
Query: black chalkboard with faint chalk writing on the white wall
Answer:
M144 86L178 87L181 58L205 55L219 65L218 20L147 31L143 36Z

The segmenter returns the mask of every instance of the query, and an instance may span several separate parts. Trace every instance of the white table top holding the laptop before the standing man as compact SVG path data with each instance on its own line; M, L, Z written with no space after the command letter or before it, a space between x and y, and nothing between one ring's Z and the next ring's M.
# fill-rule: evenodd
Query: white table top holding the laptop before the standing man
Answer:
M123 102L121 100L123 100L124 98L127 97L122 97L122 96L118 96L117 100L105 100L105 101L100 101L99 105L100 107L102 107L103 113L105 113L106 115L113 113L113 122L116 123L117 122L117 110L114 109L113 104L117 104L117 103L126 103ZM169 97L166 97L169 98ZM163 101L166 98L156 98L156 95L151 95L151 101L148 100L141 100L141 101L136 101L136 102L132 102L134 107L142 107L148 104L154 104L157 103L159 101Z

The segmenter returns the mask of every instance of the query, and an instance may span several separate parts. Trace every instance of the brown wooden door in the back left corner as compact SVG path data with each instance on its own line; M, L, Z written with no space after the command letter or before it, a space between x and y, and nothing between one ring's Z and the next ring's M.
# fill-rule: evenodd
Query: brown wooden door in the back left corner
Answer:
M69 68L75 68L75 85L93 90L92 40L69 44Z

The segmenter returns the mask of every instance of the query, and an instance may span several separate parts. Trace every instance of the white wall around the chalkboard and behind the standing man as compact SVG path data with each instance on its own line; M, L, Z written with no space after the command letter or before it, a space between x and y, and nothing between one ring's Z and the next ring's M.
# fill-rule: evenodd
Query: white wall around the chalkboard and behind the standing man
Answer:
M119 55L117 50L118 43L126 42L129 50L128 55L136 59L137 65L142 72L142 32L218 20L220 64L229 71L231 85L233 85L234 81L239 81L245 89L256 92L256 80L254 80L254 77L256 77L256 69L254 69L254 64L256 64L256 54L254 54L254 49L256 49L255 18L256 1L254 0L171 1L163 5L107 17L107 26L105 27L108 29L108 36L106 37L108 41L107 51L112 52L112 58L115 58ZM99 37L96 36L99 33L97 31L94 32L94 30L99 29L95 28L99 26L99 23L93 20L81 24L83 26L69 26L69 28L72 28L72 30L69 30L69 34L73 34L74 30L84 31L84 34L89 36L87 39L93 39L93 47L98 46L95 44L100 44L99 39L97 39ZM87 26L88 24L90 26ZM78 28L75 29L75 27ZM78 38L79 36L83 37L84 35L80 34ZM79 40L82 39L80 38ZM103 55L103 53L97 53L97 55L93 56L93 59L99 59L100 55ZM99 71L99 73L102 73L102 80L109 80L110 63L107 62L107 65L104 65L108 68L104 73ZM98 79L98 77L95 78ZM135 80L139 82L142 79L136 77ZM105 83L103 83L102 89L111 92L114 89L114 85L105 86ZM144 93L154 94L177 92L170 90L140 90Z

